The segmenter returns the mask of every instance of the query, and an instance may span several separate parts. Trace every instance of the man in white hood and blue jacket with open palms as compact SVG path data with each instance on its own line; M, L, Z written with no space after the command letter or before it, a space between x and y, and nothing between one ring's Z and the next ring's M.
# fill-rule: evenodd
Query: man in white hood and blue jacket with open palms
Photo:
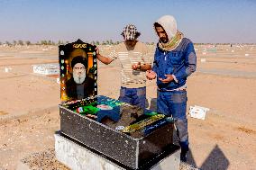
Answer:
M191 40L177 30L173 16L164 15L154 23L160 40L155 51L153 67L148 79L157 77L157 110L172 116L181 147L180 160L187 161L187 76L196 71L197 56Z

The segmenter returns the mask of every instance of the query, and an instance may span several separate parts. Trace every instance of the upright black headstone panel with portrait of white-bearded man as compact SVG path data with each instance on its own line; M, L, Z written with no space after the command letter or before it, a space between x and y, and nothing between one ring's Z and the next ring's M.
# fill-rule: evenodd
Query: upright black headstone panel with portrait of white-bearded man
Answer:
M77 40L59 45L61 102L93 100L97 94L96 46Z

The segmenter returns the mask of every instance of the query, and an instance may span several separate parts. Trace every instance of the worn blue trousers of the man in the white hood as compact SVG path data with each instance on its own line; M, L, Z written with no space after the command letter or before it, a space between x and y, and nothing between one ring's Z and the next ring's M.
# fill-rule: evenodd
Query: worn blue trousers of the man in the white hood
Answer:
M161 92L158 90L157 110L177 120L175 126L179 145L183 151L188 151L187 91Z

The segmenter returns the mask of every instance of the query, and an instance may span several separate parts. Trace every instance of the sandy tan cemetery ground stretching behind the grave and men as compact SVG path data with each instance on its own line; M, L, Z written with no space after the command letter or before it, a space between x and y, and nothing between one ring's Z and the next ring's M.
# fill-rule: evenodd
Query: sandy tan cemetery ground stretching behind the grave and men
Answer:
M195 48L197 73L187 80L187 109L196 104L210 111L206 120L187 117L188 163L201 169L256 169L256 46ZM103 54L109 50L101 49ZM56 77L33 74L32 65L57 62L58 47L0 47L1 170L54 148L59 84ZM5 67L12 69L5 72ZM117 62L99 63L99 94L118 97L119 70ZM147 97L154 110L154 81L147 82Z

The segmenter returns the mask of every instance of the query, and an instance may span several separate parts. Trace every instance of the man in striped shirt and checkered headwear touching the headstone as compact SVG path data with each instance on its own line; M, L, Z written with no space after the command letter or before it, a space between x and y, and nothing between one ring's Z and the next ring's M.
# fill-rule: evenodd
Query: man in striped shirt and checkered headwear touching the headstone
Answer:
M124 41L114 48L108 58L100 55L99 49L96 49L96 57L106 65L119 58L122 67L119 100L145 108L145 71L151 69L151 58L146 45L137 40L141 33L133 24L126 25L121 35Z

